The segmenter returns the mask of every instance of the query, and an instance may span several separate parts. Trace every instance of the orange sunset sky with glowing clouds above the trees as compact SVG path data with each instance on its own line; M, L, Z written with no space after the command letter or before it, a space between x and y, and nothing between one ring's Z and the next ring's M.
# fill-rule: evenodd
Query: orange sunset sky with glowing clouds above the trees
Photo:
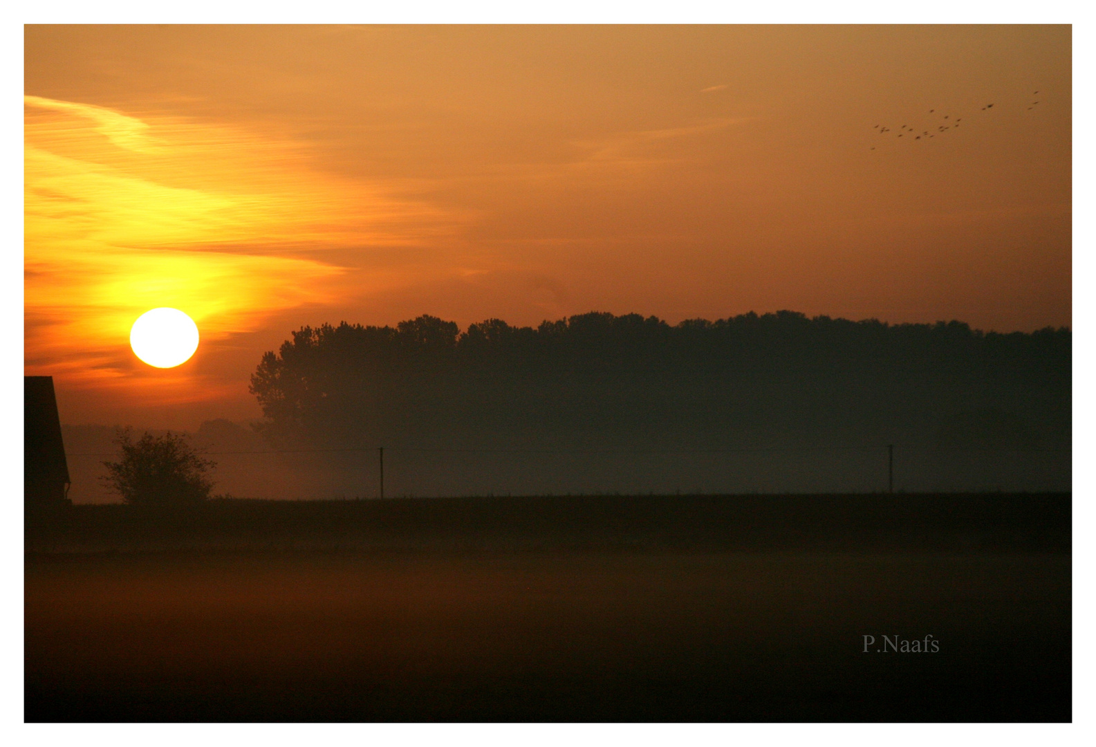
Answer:
M27 26L25 371L194 428L322 321L1070 326L1071 86L1069 26Z

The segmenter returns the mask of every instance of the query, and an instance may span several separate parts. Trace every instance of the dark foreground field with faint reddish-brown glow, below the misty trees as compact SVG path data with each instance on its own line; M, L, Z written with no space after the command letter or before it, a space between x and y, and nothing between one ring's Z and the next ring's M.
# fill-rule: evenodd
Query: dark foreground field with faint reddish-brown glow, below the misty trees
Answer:
M1071 718L1069 495L88 506L26 548L31 722Z

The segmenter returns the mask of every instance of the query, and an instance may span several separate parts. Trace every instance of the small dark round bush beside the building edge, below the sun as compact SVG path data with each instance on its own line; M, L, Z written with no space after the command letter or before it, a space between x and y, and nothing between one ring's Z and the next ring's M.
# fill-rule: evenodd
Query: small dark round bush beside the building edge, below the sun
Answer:
M103 482L130 506L169 508L194 506L209 498L213 480L206 474L216 463L203 459L183 435L148 431L136 442L127 428L115 442L122 450L118 462L103 462Z

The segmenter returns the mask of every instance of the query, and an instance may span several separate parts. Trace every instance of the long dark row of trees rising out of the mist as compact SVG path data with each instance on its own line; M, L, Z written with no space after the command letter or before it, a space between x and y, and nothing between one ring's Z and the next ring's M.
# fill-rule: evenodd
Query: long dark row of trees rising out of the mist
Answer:
M251 377L275 448L1069 446L1072 333L795 312L302 327Z

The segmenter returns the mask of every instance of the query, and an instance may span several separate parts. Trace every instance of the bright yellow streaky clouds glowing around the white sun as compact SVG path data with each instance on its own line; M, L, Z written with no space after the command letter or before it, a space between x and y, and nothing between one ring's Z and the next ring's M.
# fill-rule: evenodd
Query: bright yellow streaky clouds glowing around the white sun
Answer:
M457 219L312 170L271 134L41 97L25 113L26 369L70 386L141 388L128 331L149 308L222 340L338 302L349 268L323 250L390 250ZM172 393L161 376L156 396L191 399L198 378Z

